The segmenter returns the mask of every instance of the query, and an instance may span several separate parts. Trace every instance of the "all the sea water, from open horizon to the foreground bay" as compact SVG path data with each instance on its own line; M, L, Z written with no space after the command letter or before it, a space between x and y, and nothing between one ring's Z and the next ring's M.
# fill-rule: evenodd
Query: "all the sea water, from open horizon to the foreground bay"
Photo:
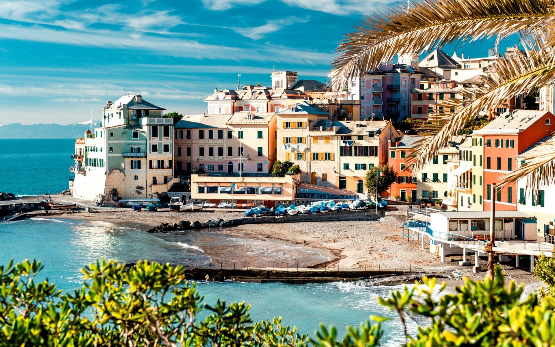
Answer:
M68 186L73 139L0 139L0 191L16 195L59 193ZM301 267L329 260L313 250L304 250L256 235L200 230L193 233L150 234L137 224L105 223L96 220L31 218L0 223L0 265L10 259L37 259L44 268L40 278L59 289L73 290L83 283L80 269L97 259L131 263L140 259L188 266L220 266L250 261L251 266ZM276 264L276 267L278 264ZM320 324L334 325L340 336L346 326L359 326L370 315L392 318L384 323L384 346L404 343L396 315L377 303L401 286L366 287L355 282L283 284L214 283L198 281L196 289L204 303L217 299L246 301L251 318L261 321L281 316L282 323L296 326L299 333L315 336ZM206 310L201 312L203 318ZM409 331L417 323L409 321Z

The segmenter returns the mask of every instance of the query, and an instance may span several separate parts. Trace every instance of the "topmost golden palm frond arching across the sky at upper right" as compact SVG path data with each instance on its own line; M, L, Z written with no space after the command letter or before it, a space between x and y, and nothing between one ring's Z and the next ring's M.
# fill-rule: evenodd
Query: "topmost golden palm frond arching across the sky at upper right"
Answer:
M372 71L397 53L422 52L457 40L541 30L555 14L553 0L423 0L362 19L337 48L335 88Z

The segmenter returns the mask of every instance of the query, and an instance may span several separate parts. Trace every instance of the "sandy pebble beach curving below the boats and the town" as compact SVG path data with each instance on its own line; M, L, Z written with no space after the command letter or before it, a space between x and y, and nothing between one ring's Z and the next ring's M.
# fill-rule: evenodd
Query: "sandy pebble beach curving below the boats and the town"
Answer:
M62 215L52 216L52 218ZM233 218L243 217L243 212L236 211ZM110 223L123 223L146 230L160 223L175 223L179 220L231 219L231 212L225 210L203 210L201 212L135 212L133 210L102 211L90 214L63 214L63 218L81 220L104 220ZM272 223L246 224L222 229L223 233L251 234L254 237L279 240L287 245L296 245L306 250L316 250L332 258L319 267L341 269L397 269L416 270L422 273L440 276L460 274L471 279L483 279L485 273L472 273L470 266L458 266L462 256L447 257L445 263L434 255L421 249L420 243L412 244L402 240L402 223L405 222L402 207L388 211L381 220L377 221L339 221L339 222L306 222L306 223ZM474 262L473 255L468 260ZM480 265L486 266L486 258L480 259ZM520 269L503 265L504 270L518 283L525 283L527 287L539 288L539 280L526 271L523 263ZM456 277L456 276L455 276ZM510 279L510 278L508 278ZM455 281L456 283L457 281ZM458 283L461 283L458 281Z

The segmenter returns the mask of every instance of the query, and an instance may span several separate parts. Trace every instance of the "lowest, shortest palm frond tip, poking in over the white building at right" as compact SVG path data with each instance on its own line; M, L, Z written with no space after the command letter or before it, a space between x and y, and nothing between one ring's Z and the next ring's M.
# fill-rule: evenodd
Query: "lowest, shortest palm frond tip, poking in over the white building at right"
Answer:
M555 183L555 137L539 143L522 155L523 164L516 170L503 175L502 185L526 179L527 191L536 192L542 186Z

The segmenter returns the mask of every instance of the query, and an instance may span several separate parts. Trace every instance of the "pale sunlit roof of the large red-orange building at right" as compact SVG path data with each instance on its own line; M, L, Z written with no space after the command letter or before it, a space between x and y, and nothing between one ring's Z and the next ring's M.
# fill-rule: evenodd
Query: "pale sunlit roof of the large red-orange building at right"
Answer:
M503 115L493 119L490 123L480 130L475 130L472 134L495 133L495 130L506 130L518 132L529 128L537 120L543 117L548 111L517 109L513 112L503 113ZM553 120L555 122L555 119Z

